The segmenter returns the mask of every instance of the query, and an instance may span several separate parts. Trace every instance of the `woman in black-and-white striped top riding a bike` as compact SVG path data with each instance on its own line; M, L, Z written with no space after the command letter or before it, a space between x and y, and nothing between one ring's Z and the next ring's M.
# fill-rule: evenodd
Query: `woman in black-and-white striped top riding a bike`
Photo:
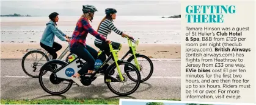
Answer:
M101 20L100 24L98 25L97 32L102 34L105 38L108 37L108 35L111 33L111 30L113 30L115 33L118 35L121 35L122 37L129 37L133 39L132 36L126 35L123 33L121 30L117 29L115 25L113 24L113 19L115 19L115 16L117 16L115 13L117 13L117 10L115 8L106 8L105 10L106 16ZM98 47L100 50L104 50L105 54L109 56L110 50L109 46L106 45L105 42L102 42L100 39L95 39L94 44L96 47ZM118 49L119 46L112 45L114 49ZM103 56L103 59L106 59L106 56ZM114 58L112 57L112 61L109 62L114 62ZM111 63L111 64L112 64Z

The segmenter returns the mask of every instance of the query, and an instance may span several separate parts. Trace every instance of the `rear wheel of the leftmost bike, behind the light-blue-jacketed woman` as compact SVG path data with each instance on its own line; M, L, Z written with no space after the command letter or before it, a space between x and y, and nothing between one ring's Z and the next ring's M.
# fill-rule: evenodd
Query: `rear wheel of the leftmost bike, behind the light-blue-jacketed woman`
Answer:
M30 58L32 57L32 58ZM42 58L42 59L41 59ZM40 60L40 61L38 61ZM31 63L27 63L31 61ZM40 51L40 50L32 50L30 52L27 52L21 61L21 67L26 73L26 75L31 76L32 78L37 78L39 75L40 68L37 68L38 66L43 66L43 64L47 63L49 61L48 56ZM29 64L29 67L24 66L26 64ZM46 72L45 72L46 73ZM43 73L43 74L45 74Z

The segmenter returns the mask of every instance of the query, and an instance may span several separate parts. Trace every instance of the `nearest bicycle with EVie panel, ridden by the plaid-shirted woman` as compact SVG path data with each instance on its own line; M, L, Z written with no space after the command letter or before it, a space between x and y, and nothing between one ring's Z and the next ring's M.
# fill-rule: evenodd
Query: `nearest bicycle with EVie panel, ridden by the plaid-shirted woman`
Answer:
M84 73L83 75L81 75L81 83L84 84L84 86L89 86L92 81L94 81L96 78L94 77L97 73L104 73L104 83L107 84L109 90L111 90L111 92L115 93L116 95L120 95L120 96L126 96L126 95L130 95L131 93L134 93L137 88L139 87L139 84L141 83L141 74L139 73L139 70L137 70L136 66L134 66L131 63L128 63L126 61L122 61L118 59L118 54L117 52L119 52L120 49L118 50L114 50L112 48L112 42L111 44L109 44L110 50L112 55L110 55L106 61L103 62L103 64L101 64L100 66L98 66L97 69L95 69L95 72L93 73ZM104 50L102 51L104 52ZM114 63L112 63L110 66L108 66L108 61L112 58L114 58ZM98 56L97 59L100 59L101 56ZM53 64L53 65L52 65ZM57 70L53 70L52 67L49 66L56 66L57 64L59 64L61 67ZM125 68L125 73L126 72L132 72L134 71L136 73L136 85L133 87L133 89L131 89L129 92L126 93L120 93L116 90L114 90L114 88L111 86L111 83L115 83L115 82L121 82L121 83L125 83L128 78L131 77L127 77L127 75L125 75L125 73L121 73L120 71L120 67L119 65L125 65L128 68ZM71 59L70 62L65 62L65 61L61 61L58 59L54 59L51 61L48 61L47 63L45 63L42 68L40 69L40 73L39 73L39 83L40 86L42 87L43 90L45 90L45 92L50 93L52 95L60 95L62 93L67 92L72 84L73 81L71 80L71 76L78 71L79 68L82 67L82 61L81 58L76 57L75 59ZM117 68L117 75L115 76L115 68ZM104 69L104 70L103 70ZM51 75L49 76L49 80L51 81L51 83L53 84L59 84L62 81L67 81L68 86L65 87L65 89L60 90L60 92L53 92L49 89L47 89L45 87L45 85L43 84L43 71L44 70L48 70L51 73ZM86 76L86 75L90 75L90 76ZM112 77L112 75L115 76ZM134 81L134 80L132 80Z

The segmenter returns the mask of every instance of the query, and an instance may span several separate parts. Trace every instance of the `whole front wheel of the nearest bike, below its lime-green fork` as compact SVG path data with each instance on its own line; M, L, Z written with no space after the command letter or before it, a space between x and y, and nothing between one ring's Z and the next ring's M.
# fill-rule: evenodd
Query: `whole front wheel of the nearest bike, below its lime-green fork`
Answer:
M126 70L125 66L128 66L131 69ZM117 67L120 68L120 72L122 73L122 76L123 76L123 81L120 81L121 78L117 70ZM133 78L139 81L131 80L130 82L128 82L130 78L128 78L128 76L126 75L127 72L132 72L134 74ZM127 96L127 95L130 95L131 93L134 93L139 87L140 80L141 80L141 74L139 73L139 70L137 70L137 68L133 64L128 63L126 61L118 61L118 66L115 63L111 64L111 66L109 66L109 69L107 70L104 76L104 81L107 84L108 88L111 90L111 92L120 96ZM114 87L114 86L119 86L119 87ZM120 89L120 86L122 87L122 89ZM130 87L131 89L128 89ZM127 90L127 92L123 92L123 90Z

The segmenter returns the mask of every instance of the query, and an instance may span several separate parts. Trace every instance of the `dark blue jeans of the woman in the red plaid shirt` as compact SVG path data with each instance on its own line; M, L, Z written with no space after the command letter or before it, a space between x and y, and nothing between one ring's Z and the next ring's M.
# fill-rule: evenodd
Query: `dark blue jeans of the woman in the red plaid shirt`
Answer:
M78 47L71 47L70 51L86 61L86 63L83 64L82 69L78 71L79 75L94 69L95 59L98 56L97 50L88 45L86 45L86 47L79 45Z

